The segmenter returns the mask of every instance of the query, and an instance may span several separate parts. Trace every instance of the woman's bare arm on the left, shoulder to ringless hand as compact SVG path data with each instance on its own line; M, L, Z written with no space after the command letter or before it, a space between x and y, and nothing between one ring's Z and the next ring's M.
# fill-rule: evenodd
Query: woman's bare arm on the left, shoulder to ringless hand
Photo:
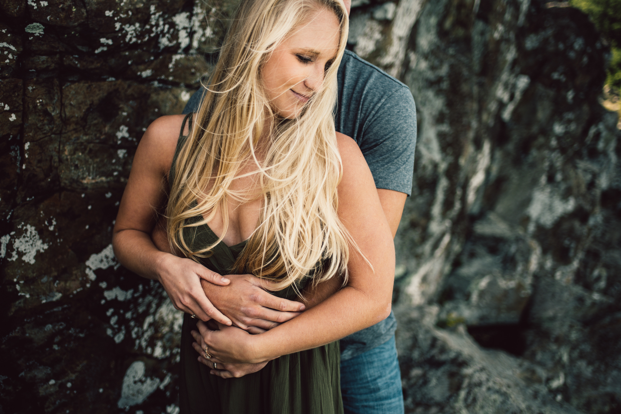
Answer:
M200 280L225 285L229 280L188 258L158 250L150 237L157 210L166 201L168 171L175 154L183 115L153 121L143 135L120 201L112 236L119 262L134 273L155 279L166 289L176 309L196 314L202 320L214 318L230 325L202 293Z

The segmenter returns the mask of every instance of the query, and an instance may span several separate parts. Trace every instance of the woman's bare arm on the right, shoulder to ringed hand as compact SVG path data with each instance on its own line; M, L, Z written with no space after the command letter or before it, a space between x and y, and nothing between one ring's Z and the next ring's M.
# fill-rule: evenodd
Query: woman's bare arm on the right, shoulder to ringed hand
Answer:
M345 337L390 314L394 281L394 244L373 177L355 141L337 134L343 161L338 215L373 265L350 249L347 286L286 324L260 335L220 325L201 332L209 352L220 361L258 363L314 348Z

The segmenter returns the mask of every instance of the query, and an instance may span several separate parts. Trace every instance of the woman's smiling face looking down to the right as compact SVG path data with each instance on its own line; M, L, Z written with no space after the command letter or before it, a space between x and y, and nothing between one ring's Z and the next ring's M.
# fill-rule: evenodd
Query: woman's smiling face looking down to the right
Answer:
M325 65L337 55L337 16L325 7L312 12L284 38L261 69L274 112L294 118L324 82Z

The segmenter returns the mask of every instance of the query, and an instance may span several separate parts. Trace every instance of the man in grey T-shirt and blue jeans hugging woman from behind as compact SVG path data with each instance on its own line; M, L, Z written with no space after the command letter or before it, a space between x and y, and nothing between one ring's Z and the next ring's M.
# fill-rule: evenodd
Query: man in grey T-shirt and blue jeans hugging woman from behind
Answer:
M349 12L351 2L345 1L345 4ZM201 97L202 90L199 90L191 97L183 113L196 112ZM373 174L379 200L394 237L404 203L412 188L416 143L416 113L412 94L406 85L354 53L346 51L338 69L337 105L336 130L355 139L360 146ZM156 245L161 243L156 242ZM243 323L248 320L260 320L264 324L262 327L268 328L273 322L291 319L296 315L291 311L299 310L298 307L285 307L280 309L289 312L274 311L271 295L256 286L255 291L237 291L235 296L243 297L243 301L230 300L233 296L229 296L226 301L223 297L218 300L217 296L224 295L227 286L223 288L204 280L201 283L214 304L226 302L231 310L235 308L237 312L245 312L246 318L240 322L234 320L230 312L216 306L242 328L248 328L249 325L246 323L244 326ZM173 299L166 284L165 287ZM209 314L206 308L211 306L210 301L202 290L199 292L195 289L194 292L197 295L194 298L197 306ZM394 341L395 329L396 320L391 312L382 322L340 341L341 388L345 413L404 412L401 374ZM201 361L213 368L213 364L202 356ZM219 374L222 376L225 372L228 376L241 376L255 372L263 366L232 365L218 364L222 369Z

